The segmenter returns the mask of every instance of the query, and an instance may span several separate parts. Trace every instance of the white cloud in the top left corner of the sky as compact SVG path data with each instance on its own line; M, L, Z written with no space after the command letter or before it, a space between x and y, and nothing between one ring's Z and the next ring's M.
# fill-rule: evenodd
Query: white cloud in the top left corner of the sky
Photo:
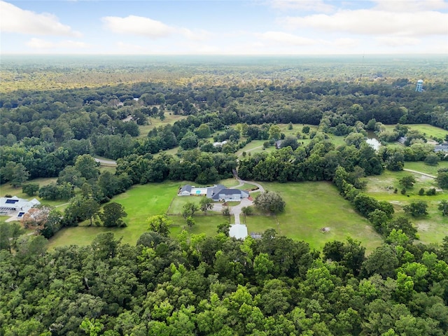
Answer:
M22 10L11 3L0 1L1 32L33 34L33 35L55 35L80 37L78 31L71 27L62 25L55 15L48 13L34 13L31 10Z

